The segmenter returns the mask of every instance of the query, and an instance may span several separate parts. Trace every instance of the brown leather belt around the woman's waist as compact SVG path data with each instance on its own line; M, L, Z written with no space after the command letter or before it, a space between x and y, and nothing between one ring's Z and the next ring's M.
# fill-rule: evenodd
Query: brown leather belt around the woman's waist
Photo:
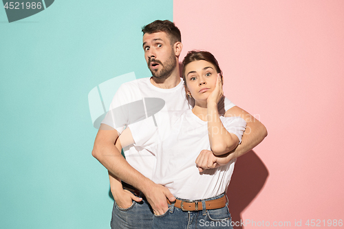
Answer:
M226 206L227 198L226 195L219 199L206 200L206 210L224 208ZM169 199L167 203L171 204ZM203 210L202 201L185 201L180 199L175 199L175 207L180 208L185 211L189 210Z

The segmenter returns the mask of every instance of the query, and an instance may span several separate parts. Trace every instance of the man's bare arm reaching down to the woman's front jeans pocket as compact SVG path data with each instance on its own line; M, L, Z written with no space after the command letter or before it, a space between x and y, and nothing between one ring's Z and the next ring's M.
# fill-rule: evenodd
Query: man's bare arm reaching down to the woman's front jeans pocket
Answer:
M116 129L106 124L100 124L92 155L110 173L141 190L151 204L155 215L162 215L168 209L166 198L174 201L175 197L166 187L155 184L130 166L115 146L117 139L118 132Z

